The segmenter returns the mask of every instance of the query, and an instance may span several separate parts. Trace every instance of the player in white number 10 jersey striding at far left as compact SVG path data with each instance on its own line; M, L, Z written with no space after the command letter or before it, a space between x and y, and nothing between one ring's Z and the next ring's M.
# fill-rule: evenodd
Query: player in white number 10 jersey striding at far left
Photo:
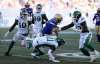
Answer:
M23 40L24 43L26 43L25 41L29 33L29 25L31 24L31 22L28 22L27 18L28 18L27 11L23 10L22 12L20 12L20 16L15 19L14 24L11 26L9 31L5 34L5 37L6 37L10 32L12 32L15 26L18 25L18 31L14 35L13 40L11 41L9 45L9 48L7 52L5 53L6 56L9 56L9 53L17 40Z

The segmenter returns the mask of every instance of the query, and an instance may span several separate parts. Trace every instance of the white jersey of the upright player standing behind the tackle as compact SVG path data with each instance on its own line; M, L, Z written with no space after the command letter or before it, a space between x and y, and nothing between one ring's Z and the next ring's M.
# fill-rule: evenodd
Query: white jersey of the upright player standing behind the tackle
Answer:
M42 24L42 14L43 13L38 13L35 12L34 15L34 28L42 28L43 24Z

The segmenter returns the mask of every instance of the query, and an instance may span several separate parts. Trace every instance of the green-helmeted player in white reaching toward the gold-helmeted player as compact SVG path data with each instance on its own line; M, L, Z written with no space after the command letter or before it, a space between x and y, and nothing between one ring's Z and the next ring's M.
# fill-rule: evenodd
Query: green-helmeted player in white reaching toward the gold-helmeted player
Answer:
M90 57L90 62L93 62L96 59L95 56L97 55L97 51L90 43L90 40L92 38L92 33L89 31L87 27L86 20L84 17L82 17L80 11L74 11L72 20L73 20L72 23L62 27L61 30L66 30L70 27L75 26L76 29L80 32L79 49L84 55ZM87 48L96 55L95 56L91 55Z

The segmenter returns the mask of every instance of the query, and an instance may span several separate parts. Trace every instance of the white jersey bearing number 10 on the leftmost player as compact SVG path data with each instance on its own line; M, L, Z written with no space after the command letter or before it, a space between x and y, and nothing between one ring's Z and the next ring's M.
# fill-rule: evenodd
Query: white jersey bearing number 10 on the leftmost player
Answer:
M16 20L18 20L18 32L21 34L27 34L28 33L28 22L22 17L18 17Z

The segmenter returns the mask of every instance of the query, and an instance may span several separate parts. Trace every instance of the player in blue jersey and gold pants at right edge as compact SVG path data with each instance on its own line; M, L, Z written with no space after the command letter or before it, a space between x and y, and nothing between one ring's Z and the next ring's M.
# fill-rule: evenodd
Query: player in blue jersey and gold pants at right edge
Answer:
M97 13L93 17L93 21L96 20L96 34L97 41L100 42L100 8L98 8Z

